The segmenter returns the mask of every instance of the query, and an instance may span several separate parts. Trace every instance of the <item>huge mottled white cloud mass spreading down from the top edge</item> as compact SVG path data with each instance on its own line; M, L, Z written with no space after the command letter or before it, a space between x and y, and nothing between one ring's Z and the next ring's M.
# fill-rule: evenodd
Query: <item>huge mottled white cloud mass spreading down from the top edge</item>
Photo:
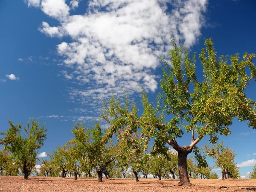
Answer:
M171 48L169 38L192 47L201 36L207 0L89 0L84 14L70 15L78 6L79 0L69 6L65 0L42 0L41 10L59 24L43 22L39 30L70 38L57 45L59 65L71 70L62 72L64 78L87 85L71 87L70 100L89 105L109 98L111 90L134 95L142 85L154 92L159 79L154 72Z

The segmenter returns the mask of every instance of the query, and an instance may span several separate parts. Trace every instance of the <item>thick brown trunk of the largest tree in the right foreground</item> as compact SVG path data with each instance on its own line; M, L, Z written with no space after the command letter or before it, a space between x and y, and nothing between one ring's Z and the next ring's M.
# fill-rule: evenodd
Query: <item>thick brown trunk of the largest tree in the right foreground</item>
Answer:
M188 156L187 151L179 151L178 158L179 158L179 172L180 172L180 182L178 185L192 185L189 180L188 176L188 169L187 169L187 162L186 158Z

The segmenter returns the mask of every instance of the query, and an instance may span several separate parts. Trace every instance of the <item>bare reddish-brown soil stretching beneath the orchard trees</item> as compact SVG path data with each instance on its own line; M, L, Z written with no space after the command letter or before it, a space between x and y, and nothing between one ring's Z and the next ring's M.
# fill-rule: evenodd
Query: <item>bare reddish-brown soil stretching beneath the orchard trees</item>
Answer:
M103 179L66 177L0 176L3 192L241 192L256 191L256 179L191 179L192 186L178 186L179 180Z

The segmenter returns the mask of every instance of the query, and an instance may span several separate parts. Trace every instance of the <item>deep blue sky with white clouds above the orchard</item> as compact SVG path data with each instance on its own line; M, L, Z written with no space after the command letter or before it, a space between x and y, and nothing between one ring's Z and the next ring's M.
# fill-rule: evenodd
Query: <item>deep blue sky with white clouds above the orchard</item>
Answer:
M94 122L111 90L127 90L140 107L142 85L154 101L171 36L190 52L206 38L218 55L256 52L255 9L254 0L1 0L0 131L8 118L37 117L48 128L40 153L49 153L72 138L75 121ZM256 100L254 87L246 93ZM256 131L236 120L230 130L221 139L247 177ZM189 144L190 134L179 142Z

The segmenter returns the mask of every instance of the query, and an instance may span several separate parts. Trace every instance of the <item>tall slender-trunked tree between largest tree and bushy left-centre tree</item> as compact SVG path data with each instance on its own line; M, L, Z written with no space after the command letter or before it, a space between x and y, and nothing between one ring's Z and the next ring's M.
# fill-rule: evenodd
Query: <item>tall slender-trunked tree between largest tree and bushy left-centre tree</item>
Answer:
M103 102L104 108L102 117L110 124L107 129L105 138L109 139L116 136L116 158L123 166L130 166L134 173L136 181L139 181L138 173L143 167L143 153L148 147L145 142L143 133L139 131L136 122L137 108L134 102L129 101L125 93L125 107L122 108L121 101L118 97L112 97L108 101L109 106ZM131 103L131 105L130 105ZM119 114L122 115L119 115ZM131 122L131 119L134 122Z

